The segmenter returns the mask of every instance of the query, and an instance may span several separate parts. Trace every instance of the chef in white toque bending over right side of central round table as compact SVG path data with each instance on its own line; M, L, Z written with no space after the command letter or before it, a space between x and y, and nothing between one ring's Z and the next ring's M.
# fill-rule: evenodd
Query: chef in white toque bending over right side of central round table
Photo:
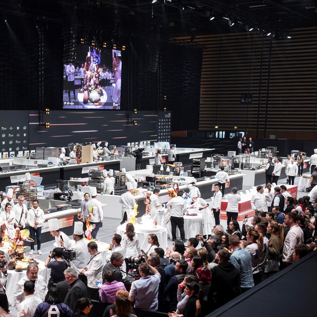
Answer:
M198 208L202 210L202 218L203 218L203 235L208 238L211 235L212 229L215 226L215 218L213 216L213 212L209 208L209 204L201 197L198 197L197 190L194 188L191 191L192 200L194 203L188 208Z

